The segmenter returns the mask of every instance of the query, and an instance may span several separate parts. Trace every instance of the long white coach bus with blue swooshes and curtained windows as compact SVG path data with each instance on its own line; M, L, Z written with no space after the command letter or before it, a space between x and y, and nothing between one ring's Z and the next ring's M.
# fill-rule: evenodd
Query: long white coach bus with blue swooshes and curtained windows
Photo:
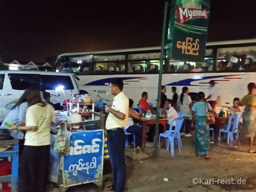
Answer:
M160 47L64 53L58 56L55 71L74 73L81 94L92 100L109 100L108 82L114 77L124 80L124 92L136 106L142 92L148 92L148 102L156 104ZM255 82L256 39L209 42L204 62L184 62L165 58L162 85L167 98L172 99L172 86L177 93L187 86L190 92L209 94L209 81L215 80L220 92L219 108L232 105L235 97L247 94L247 84ZM105 102L105 101L104 101ZM216 109L216 111L218 110Z

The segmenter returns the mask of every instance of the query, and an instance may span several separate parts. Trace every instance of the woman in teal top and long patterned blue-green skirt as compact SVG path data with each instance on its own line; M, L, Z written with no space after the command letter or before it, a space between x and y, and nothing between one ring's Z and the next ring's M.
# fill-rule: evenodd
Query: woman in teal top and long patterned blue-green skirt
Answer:
M207 119L207 113L212 112L212 106L205 102L204 92L197 93L199 101L196 102L192 107L192 123L191 126L194 127L193 120L196 121L196 155L200 157L205 155L206 160L210 159L209 156L209 145L210 145L210 132L209 124ZM196 114L196 116L195 116Z

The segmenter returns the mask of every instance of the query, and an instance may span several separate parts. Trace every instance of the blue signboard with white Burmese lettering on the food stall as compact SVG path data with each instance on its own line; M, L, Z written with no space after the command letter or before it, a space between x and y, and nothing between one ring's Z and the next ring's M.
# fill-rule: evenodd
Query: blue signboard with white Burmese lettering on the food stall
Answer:
M103 147L103 130L72 133L63 162L66 187L102 179Z

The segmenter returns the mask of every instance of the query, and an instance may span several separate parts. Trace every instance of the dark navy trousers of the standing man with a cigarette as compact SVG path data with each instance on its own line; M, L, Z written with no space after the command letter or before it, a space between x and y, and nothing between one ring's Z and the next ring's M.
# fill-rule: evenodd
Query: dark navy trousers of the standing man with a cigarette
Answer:
M123 129L118 128L115 131L107 131L108 133L108 154L113 173L112 188L115 192L124 192L125 185L125 133Z

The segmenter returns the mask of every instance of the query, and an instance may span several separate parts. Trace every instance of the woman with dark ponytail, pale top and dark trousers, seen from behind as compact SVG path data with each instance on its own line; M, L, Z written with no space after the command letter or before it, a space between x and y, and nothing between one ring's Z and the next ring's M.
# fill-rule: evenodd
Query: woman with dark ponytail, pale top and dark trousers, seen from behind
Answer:
M179 107L179 112L183 114L183 125L182 127L185 126L185 133L182 133L182 130L180 129L181 135L185 135L186 137L192 136L189 131L190 131L190 120L191 120L191 108L192 108L192 100L191 97L188 95L188 87L183 87L182 88L182 93L178 97L178 107Z

